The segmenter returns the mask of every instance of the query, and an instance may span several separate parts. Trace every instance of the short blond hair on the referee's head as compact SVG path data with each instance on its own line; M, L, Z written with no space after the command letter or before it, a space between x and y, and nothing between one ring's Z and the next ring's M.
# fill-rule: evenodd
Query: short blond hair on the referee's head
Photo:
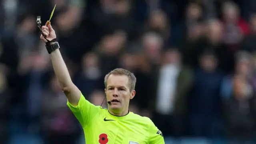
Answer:
M113 74L113 75L126 75L129 78L129 88L130 91L135 90L135 85L136 85L136 77L134 76L134 74L132 72L130 72L129 70L125 70L123 68L116 68L114 70L112 70L111 72L109 72L108 74L106 74L105 78L104 78L104 85L105 88L107 88L107 81L108 81L108 77Z

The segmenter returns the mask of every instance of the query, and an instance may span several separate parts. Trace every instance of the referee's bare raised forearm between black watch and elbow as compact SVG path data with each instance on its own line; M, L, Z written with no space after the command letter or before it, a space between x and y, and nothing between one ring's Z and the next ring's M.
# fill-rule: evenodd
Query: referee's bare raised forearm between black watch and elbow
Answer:
M73 83L68 72L68 68L61 56L60 50L57 49L53 51L50 55L52 59L52 66L54 68L54 72L58 78L61 88L71 86Z

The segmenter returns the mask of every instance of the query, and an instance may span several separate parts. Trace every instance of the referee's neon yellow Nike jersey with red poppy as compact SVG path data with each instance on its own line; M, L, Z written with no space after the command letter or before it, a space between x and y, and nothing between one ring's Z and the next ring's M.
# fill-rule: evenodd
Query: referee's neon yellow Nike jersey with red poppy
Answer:
M67 104L83 127L86 144L164 144L162 132L150 118L133 112L114 116L82 94L78 106Z

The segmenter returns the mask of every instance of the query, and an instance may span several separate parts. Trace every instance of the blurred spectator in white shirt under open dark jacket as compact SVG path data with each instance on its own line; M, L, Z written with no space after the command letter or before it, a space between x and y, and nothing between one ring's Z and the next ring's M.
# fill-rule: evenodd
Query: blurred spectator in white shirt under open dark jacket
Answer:
M182 116L185 114L186 97L190 91L192 77L190 69L181 65L181 56L176 49L168 50L164 54L158 72L154 119L166 136L179 135L183 132Z

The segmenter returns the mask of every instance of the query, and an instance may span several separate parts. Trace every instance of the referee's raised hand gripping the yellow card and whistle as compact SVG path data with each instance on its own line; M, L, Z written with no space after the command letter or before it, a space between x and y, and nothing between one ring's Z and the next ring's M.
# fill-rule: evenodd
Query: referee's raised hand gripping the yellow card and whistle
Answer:
M55 31L49 21L45 23L45 26L42 26L42 32L44 33L44 36L50 41L56 38ZM40 39L46 43L47 40L44 38L44 36L41 34Z

